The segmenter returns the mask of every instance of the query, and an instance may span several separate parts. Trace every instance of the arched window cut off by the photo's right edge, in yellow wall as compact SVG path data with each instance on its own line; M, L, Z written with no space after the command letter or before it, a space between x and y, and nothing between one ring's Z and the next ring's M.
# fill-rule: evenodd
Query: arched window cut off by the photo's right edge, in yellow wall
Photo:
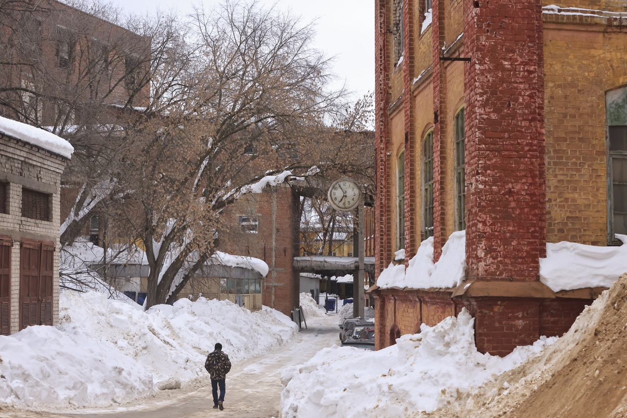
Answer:
M606 94L608 121L608 241L627 234L627 87Z

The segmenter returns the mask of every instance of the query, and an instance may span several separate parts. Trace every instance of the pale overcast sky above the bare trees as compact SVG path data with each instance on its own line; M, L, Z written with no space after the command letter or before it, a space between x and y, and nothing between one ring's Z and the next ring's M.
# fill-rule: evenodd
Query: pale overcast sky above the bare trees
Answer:
M143 14L157 8L191 13L196 0L111 0L126 12ZM220 0L204 0L205 6ZM374 90L374 0L260 0L264 7L276 3L292 9L303 23L316 22L315 46L335 56L334 72L359 95Z

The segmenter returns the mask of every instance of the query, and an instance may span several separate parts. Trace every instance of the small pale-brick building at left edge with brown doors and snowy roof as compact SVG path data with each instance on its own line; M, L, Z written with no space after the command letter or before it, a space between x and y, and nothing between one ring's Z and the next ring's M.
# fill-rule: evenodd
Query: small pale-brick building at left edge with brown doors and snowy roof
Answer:
M6 133L5 121L0 120L1 335L58 320L61 173L69 157ZM20 129L36 136L40 131Z

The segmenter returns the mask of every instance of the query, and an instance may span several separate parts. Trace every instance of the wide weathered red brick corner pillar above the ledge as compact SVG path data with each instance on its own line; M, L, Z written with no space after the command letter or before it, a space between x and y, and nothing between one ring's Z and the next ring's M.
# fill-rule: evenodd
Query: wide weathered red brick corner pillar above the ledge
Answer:
M538 281L545 254L542 6L464 0L464 16L472 58L465 68L466 279Z

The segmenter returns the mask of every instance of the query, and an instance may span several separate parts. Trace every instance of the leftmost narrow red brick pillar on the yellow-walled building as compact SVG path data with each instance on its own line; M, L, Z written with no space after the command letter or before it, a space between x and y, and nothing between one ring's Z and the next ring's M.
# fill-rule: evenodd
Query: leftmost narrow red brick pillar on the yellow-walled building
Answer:
M389 171L389 159L387 153L387 138L389 138L387 125L387 109L389 108L389 97L387 86L389 85L389 51L387 48L386 32L386 1L376 0L374 3L375 16L375 130L374 141L376 146L376 186L377 196L374 213L374 274L379 276L382 269L389 262L391 254L391 237L386 233L390 225L390 202L387 187L387 172Z

